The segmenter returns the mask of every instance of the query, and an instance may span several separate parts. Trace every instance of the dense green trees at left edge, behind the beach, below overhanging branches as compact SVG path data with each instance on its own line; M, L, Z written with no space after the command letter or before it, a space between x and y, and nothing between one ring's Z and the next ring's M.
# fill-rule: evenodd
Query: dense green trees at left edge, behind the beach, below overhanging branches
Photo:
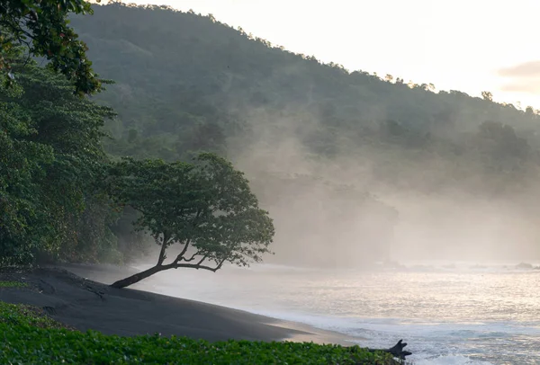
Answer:
M109 215L85 208L109 205L96 197L94 182L107 161L101 128L113 113L34 62L14 58L11 65L18 83L0 89L0 257L11 264L36 254L74 260L72 253L85 252L75 250L79 241L95 246L95 234L108 233ZM94 232L82 233L92 212Z

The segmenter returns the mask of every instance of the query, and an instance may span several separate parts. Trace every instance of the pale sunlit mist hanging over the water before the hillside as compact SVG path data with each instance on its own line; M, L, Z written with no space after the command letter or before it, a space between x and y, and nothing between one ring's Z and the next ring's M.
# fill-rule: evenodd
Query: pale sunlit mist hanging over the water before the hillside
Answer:
M489 191L491 181L474 174L473 162L462 162L473 174L455 181L453 163L445 156L411 158L405 151L400 156L398 148L391 155L392 165L401 165L408 186L400 177L392 182L381 175L388 151L349 145L338 146L329 158L311 153L302 139L320 123L306 111L276 116L254 109L246 120L250 131L229 141L230 157L275 219L275 256L266 262L354 267L382 259L482 262L540 257L536 209L527 204L538 199L538 191L527 181L525 185L533 187L520 194L482 196L475 191ZM298 175L320 184L303 184ZM287 178L290 183L284 182ZM353 185L357 195L340 200L324 189L324 182Z

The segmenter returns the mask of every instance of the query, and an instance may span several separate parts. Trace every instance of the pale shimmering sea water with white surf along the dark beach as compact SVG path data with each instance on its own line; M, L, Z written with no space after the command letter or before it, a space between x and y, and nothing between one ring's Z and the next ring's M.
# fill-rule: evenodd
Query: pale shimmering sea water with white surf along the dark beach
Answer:
M263 264L164 272L151 284L167 295L354 336L362 346L402 338L414 364L540 364L540 270L515 265L331 271Z

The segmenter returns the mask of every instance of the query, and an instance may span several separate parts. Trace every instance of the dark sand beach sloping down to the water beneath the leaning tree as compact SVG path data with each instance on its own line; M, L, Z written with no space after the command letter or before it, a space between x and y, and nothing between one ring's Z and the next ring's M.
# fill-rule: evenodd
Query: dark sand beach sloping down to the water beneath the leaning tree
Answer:
M24 281L29 288L0 289L0 300L44 307L50 316L66 325L103 334L159 333L208 341L288 340L351 344L344 335L308 325L148 291L113 289L94 281L110 283L129 273L117 268L89 265L19 272L4 270L0 272L0 280Z

